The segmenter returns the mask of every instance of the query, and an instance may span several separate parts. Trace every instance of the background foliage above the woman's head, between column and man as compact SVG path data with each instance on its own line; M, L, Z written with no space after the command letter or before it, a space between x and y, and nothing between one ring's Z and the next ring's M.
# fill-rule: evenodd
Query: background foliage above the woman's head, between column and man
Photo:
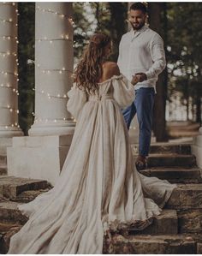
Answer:
M80 58L93 33L106 33L113 41L111 61L117 60L118 45L127 31L128 3L74 3L74 57Z

